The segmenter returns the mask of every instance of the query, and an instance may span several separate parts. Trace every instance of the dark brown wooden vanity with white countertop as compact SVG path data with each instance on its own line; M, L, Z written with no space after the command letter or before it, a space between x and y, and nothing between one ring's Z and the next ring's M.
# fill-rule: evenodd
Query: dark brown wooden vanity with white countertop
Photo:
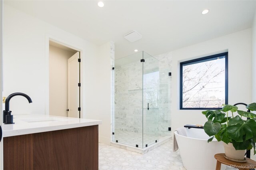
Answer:
M4 170L98 170L102 121L22 115L14 123L2 127Z

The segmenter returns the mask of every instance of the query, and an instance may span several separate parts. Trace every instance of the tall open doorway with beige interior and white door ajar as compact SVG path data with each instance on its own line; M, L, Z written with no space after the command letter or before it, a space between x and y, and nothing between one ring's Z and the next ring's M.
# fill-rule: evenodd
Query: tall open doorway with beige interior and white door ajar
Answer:
M80 118L80 51L49 42L49 114Z

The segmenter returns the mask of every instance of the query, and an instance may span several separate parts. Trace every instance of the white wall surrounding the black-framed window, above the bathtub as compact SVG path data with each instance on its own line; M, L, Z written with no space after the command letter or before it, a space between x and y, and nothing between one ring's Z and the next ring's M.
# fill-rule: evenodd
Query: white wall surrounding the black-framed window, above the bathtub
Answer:
M201 110L179 109L179 64L228 50L228 103L252 102L252 34L251 29L236 32L172 51L171 119L172 132L186 124L204 124Z

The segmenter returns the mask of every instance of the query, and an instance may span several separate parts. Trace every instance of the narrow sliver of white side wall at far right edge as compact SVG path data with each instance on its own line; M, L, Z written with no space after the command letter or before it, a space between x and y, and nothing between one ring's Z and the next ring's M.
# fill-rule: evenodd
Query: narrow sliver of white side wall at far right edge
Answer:
M256 102L256 12L252 23L252 101Z

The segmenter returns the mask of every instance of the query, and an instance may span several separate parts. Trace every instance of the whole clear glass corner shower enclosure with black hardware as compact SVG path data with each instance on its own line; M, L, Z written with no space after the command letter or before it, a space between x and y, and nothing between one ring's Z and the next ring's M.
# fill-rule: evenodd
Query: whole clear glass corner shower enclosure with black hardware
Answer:
M170 136L170 77L159 65L144 51L114 61L114 142L145 148Z

